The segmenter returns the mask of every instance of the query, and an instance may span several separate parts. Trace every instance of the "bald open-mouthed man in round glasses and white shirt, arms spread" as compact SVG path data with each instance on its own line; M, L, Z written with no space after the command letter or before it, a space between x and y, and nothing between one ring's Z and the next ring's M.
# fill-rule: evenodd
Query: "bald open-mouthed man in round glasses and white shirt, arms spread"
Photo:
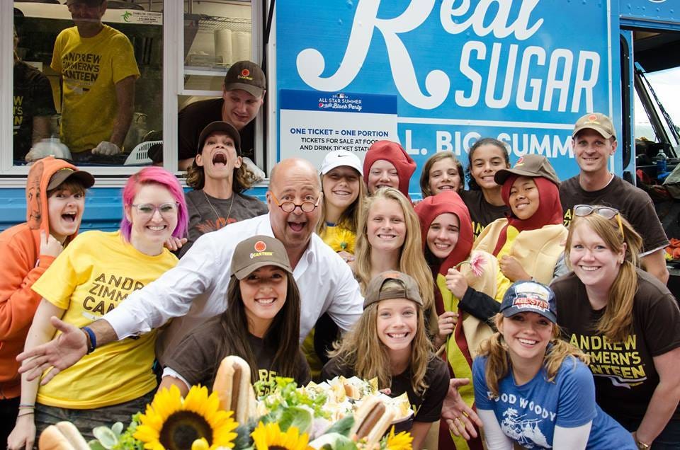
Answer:
M53 325L63 334L24 353L26 357L40 354L44 358L30 359L22 370L30 371L30 378L55 366L57 369L43 379L45 383L52 379L50 374L72 366L89 348L147 333L174 318L157 345L157 354L163 361L164 350L176 346L186 333L208 318L225 311L234 248L258 234L274 236L288 253L300 289L300 339L325 312L341 330L351 328L363 311L363 296L346 262L314 233L322 201L317 169L303 159L284 159L274 166L270 180L269 214L200 236L176 267L132 292L118 308L89 325L93 333L89 336L90 347L84 331L55 318Z

